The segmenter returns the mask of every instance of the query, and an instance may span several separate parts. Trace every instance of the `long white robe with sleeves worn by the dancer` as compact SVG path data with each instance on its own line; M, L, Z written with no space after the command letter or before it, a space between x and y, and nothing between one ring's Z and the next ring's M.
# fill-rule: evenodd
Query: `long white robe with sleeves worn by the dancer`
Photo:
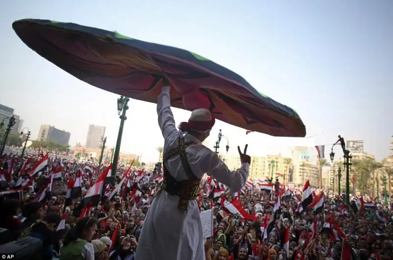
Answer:
M163 87L157 102L158 124L165 139L164 154L177 146L177 137L182 135L176 129L170 109L169 90L169 87ZM186 134L185 139L186 143L196 143L187 147L186 153L197 178L208 173L232 192L241 190L248 178L248 163L242 164L236 171L230 171L216 153L194 136ZM165 166L176 180L187 179L179 155L169 158ZM197 201L188 202L184 212L180 212L177 205L178 197L164 190L153 200L138 241L136 260L205 260Z

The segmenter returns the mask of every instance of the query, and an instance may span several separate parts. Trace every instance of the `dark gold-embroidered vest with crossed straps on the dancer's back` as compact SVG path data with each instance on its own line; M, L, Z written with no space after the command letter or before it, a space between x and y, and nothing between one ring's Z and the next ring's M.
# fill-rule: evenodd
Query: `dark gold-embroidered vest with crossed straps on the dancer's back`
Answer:
M155 196L160 193L162 190L165 190L171 195L176 195L179 197L179 204L177 208L180 211L187 210L187 205L189 201L197 199L199 194L199 183L200 179L198 179L190 168L190 164L187 160L186 148L194 145L195 143L187 143L185 144L184 137L179 136L177 138L177 147L168 151L168 153L163 156L163 169L164 169L164 180L158 188ZM184 171L188 177L186 180L177 181L165 167L166 161L169 158L175 156L180 156L181 164L183 165Z

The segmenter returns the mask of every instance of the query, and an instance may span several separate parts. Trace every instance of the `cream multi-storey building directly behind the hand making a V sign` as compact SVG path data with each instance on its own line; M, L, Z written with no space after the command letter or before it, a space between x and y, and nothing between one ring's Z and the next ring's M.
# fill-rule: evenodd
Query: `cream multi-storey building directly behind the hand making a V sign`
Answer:
M239 155L224 154L220 155L220 158L230 170L236 170L241 165ZM252 180L275 178L276 173L280 173L282 176L279 177L279 181L287 183L291 179L291 166L291 158L282 157L281 155L252 156L249 178Z

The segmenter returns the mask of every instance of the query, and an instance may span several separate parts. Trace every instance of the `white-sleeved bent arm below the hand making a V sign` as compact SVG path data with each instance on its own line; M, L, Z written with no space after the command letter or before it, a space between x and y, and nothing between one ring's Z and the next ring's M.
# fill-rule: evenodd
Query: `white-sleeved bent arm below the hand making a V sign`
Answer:
M243 163L236 171L230 171L216 153L211 153L207 174L228 186L232 192L240 191L249 176L250 164Z

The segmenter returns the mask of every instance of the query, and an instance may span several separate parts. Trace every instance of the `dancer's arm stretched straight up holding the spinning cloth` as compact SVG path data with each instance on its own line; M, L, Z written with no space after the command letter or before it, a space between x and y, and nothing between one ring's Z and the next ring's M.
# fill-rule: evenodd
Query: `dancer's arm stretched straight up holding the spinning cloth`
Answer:
M161 89L161 94L158 96L157 100L157 115L158 115L158 125L161 128L164 139L177 133L175 120L173 119L173 114L170 109L170 87L163 86Z

